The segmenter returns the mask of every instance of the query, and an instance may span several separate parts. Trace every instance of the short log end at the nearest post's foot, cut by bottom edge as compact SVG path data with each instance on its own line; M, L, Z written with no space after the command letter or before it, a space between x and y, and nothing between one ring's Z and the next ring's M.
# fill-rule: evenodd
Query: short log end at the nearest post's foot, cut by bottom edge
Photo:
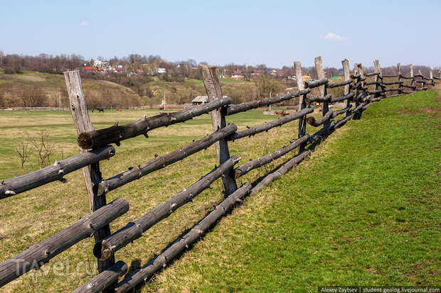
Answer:
M112 267L108 267L106 270L100 272L99 275L94 277L89 282L83 284L73 291L73 293L98 293L117 282L119 277L122 277L127 272L127 265L125 262L119 260Z

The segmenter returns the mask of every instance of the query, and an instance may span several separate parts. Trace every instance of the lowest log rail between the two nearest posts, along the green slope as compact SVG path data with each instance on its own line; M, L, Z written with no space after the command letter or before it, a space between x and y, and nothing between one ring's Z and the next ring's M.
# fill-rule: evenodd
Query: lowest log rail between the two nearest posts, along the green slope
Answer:
M166 267L174 258L180 255L184 250L195 243L203 233L206 233L208 229L213 226L219 219L221 219L225 214L233 209L233 207L241 202L244 197L250 193L251 184L245 183L242 187L237 189L233 194L230 194L226 199L224 199L221 204L218 204L216 208L211 211L205 218L203 218L199 223L197 223L190 231L188 231L184 236L178 238L173 244L166 248L160 255L151 260L143 267L135 270L131 275L128 275L117 284L115 292L131 292L134 287L142 282L147 282L154 273Z

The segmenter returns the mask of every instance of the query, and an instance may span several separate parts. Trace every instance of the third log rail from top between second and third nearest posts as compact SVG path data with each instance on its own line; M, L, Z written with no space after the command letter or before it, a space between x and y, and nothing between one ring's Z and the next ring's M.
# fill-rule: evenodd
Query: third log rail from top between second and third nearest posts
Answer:
M239 178L247 174L251 170L254 170L258 167L262 167L263 165L266 165L267 163L272 162L273 160L276 160L279 157L282 157L282 155L286 155L287 153L297 148L301 143L306 142L308 139L309 139L309 134L306 134L305 136L302 136L302 138L295 140L293 143L286 145L280 150L275 150L274 152L264 155L263 157L259 157L258 159L245 162L245 164L235 168L235 177Z

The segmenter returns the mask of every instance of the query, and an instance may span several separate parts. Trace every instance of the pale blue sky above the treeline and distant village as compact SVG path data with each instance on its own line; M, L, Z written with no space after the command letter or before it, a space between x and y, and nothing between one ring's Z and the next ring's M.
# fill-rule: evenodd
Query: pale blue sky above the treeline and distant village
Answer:
M441 1L2 1L0 50L270 67L441 65Z

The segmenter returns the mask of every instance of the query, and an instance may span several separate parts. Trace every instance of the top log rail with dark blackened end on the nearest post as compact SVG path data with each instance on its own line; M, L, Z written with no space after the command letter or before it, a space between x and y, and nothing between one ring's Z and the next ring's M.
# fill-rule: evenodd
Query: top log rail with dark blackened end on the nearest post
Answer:
M147 136L147 131L162 126L169 126L174 123L184 122L202 114L208 114L210 111L221 108L227 104L231 104L231 98L229 97L209 101L206 104L179 112L162 113L150 117L144 116L136 122L123 126L118 126L117 123L115 123L115 126L110 128L81 133L80 136L78 136L78 145L83 149L99 148L110 143L116 143L119 145L121 140L134 138L135 136L140 136L142 134Z

